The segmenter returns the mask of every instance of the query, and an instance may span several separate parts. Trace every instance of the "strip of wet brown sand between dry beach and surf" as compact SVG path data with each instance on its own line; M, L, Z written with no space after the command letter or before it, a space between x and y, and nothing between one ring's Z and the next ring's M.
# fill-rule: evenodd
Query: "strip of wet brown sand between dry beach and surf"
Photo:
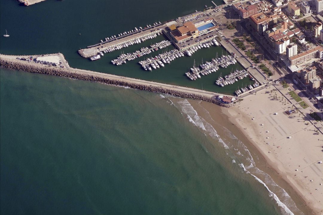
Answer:
M282 174L279 174L282 171L276 168L275 162L269 160L266 156L266 153L257 147L257 144L255 143L255 141L248 138L248 136L250 135L246 132L247 130L244 130L242 127L238 126L236 124L235 119L231 119L233 115L229 113L230 109L216 107L211 103L204 103L204 102L200 103L193 100L190 100L189 102L191 103L191 105L196 110L199 116L201 116L204 119L207 118L207 114L203 113L202 110L199 110L199 108L202 107L209 112L211 118L215 122L221 122L220 124L221 126L228 129L230 132L234 134L235 137L238 138L238 140L243 142L243 144L247 147L247 149L250 151L251 155L253 156L256 164L256 168L267 173L279 187L284 189L288 193L290 198L294 201L294 203L296 204L296 207L299 210L301 210L301 212L303 212L304 214L322 214L321 210L313 207L313 205L311 204L307 204L308 200L304 198L303 196L304 193L299 192L297 188L293 185L294 181L291 182L288 179L284 178ZM201 107L199 107L199 105ZM234 108L237 108L237 107L234 107ZM206 121L215 128L216 125L214 123L208 120ZM216 132L219 134L221 138L225 136L225 133L222 131L216 130ZM297 214L297 213L294 213L294 214Z

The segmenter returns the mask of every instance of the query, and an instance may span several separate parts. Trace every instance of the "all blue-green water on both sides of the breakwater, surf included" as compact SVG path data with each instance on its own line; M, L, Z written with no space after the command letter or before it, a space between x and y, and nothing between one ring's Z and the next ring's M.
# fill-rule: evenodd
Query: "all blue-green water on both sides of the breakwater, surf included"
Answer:
M217 73L200 82L185 79L193 58L147 73L136 62L109 64L118 53L97 62L76 53L102 35L203 10L205 4L211 5L47 0L24 7L0 0L0 32L10 34L1 37L0 53L61 52L73 67L192 87L203 81L203 89L216 91ZM217 51L222 49L201 50L196 61ZM245 145L221 122L209 124L212 119L199 116L190 102L0 68L0 213L302 214L255 168L257 158Z

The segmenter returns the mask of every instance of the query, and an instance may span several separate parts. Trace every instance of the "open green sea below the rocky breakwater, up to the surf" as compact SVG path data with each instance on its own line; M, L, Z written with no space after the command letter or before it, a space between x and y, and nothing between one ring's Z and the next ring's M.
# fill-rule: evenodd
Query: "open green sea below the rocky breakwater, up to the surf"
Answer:
M186 99L0 75L1 214L291 214Z

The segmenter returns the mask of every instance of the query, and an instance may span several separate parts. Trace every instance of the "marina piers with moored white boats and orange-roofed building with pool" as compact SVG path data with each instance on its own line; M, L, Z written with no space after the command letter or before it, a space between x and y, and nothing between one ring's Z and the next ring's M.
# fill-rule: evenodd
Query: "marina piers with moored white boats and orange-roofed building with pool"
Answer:
M215 10L216 11L216 10ZM245 61L242 58L235 56L231 50L227 49L227 44L223 43L221 40L221 31L219 25L214 20L214 10L207 9L205 11L196 11L193 14L185 15L179 17L176 20L170 20L164 23L155 22L153 25L146 25L146 27L135 27L133 30L123 32L113 36L109 36L104 40L101 40L101 43L90 45L86 49L78 50L78 53L86 58L89 58L91 61L99 60L108 54L122 48L127 48L133 44L141 44L142 42L156 38L157 36L164 37L164 40L151 44L150 47L141 47L139 50L121 54L111 60L111 64L122 65L126 64L127 61L132 61L139 59L144 55L151 54L155 51L161 50L168 46L173 45L175 48L169 51L159 52L155 56L150 56L145 59L140 60L138 63L145 71L153 71L155 69L165 67L166 64L170 64L177 58L193 56L195 52L198 52L200 49L210 48L211 46L223 46L227 50L227 55L216 53L216 57L211 60L211 62L206 61L199 66L195 66L195 60L193 68L190 68L186 72L186 76L190 80L197 80L202 76L207 76L208 74L215 73L221 68L226 68L229 65L240 63ZM225 45L224 45L225 44ZM222 51L223 52L223 51ZM229 54L228 54L229 53ZM252 83L249 84L249 88L237 87L235 94L240 95L249 90L252 90L254 87L261 85L261 82L255 81L255 76L252 72L249 72L249 66L246 66L245 63L241 64L244 69L232 71L229 75L230 77L217 77L217 80L214 80L214 85L224 87L225 85L230 85L239 80L242 80L245 77L250 77ZM254 85L254 86L253 86Z

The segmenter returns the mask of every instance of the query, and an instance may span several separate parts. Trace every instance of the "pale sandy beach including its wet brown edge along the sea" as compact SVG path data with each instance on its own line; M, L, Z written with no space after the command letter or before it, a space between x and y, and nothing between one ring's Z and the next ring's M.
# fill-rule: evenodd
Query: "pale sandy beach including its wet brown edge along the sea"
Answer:
M323 135L313 124L318 127L321 122L304 120L299 112L287 115L285 111L295 109L293 101L285 101L276 87L252 94L228 109L190 103L206 121L208 116L202 109L207 110L212 121L221 121L253 157L257 155L257 168L287 191L298 209L304 214L323 214L323 164L319 163L323 161Z

